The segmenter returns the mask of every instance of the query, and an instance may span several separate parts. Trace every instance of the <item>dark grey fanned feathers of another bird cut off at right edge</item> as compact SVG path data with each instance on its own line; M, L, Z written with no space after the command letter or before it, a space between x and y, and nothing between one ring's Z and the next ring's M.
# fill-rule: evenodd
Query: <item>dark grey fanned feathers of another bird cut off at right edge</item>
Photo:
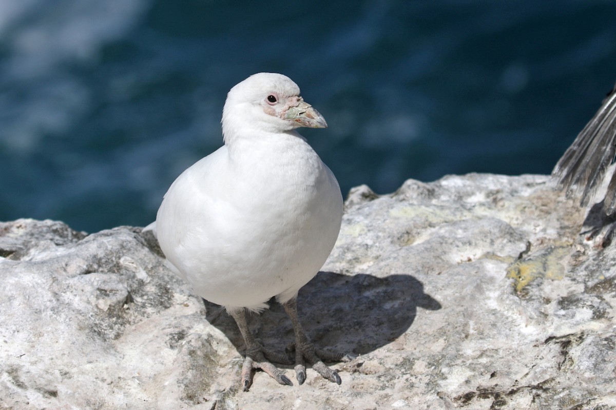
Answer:
M616 86L552 171L552 175L558 179L559 187L567 192L568 197L581 195L580 205L588 205L607 167L614 160L615 144ZM613 211L615 202L616 176L612 176L604 209Z

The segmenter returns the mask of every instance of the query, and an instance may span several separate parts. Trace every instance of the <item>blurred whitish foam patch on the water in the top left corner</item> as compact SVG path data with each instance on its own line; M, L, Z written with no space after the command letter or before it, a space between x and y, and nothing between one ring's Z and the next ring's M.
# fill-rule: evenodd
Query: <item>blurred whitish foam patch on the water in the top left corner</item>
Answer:
M0 147L27 154L87 112L71 65L95 61L139 22L144 0L0 2ZM33 84L35 86L33 86Z

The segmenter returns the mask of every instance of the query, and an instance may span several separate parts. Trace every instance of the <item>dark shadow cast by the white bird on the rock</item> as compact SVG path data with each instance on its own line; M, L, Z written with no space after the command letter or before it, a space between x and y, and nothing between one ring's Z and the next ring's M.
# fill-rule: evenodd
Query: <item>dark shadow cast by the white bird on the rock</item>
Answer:
M244 343L235 321L215 304L204 301L206 319L240 351ZM302 326L315 345L336 352L366 354L389 344L413 324L417 307L441 308L410 275L384 278L319 272L299 291ZM270 301L261 315L249 315L253 334L267 347L284 350L294 341L291 321L280 304Z

